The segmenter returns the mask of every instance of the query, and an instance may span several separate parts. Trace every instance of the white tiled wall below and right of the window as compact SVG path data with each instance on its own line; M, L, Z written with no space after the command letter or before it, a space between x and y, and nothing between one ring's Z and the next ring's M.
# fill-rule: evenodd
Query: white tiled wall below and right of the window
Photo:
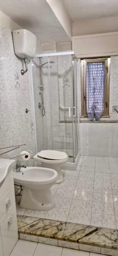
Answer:
M118 56L111 56L110 64L110 118L118 120L118 114L112 112L112 105L118 105ZM81 104L80 104L81 106ZM87 120L87 119L82 119ZM81 154L86 156L118 156L118 123L80 123Z

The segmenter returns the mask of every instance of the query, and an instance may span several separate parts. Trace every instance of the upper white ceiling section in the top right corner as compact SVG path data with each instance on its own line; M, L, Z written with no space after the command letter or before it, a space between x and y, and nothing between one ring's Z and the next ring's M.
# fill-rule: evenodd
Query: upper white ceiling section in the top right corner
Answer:
M62 1L72 21L118 16L118 0Z

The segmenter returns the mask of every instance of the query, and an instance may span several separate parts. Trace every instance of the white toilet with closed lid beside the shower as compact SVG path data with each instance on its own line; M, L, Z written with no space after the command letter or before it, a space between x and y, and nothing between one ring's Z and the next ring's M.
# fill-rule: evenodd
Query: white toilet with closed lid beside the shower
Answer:
M61 166L67 161L66 153L55 150L43 150L34 156L37 162L41 162L43 167L52 168L57 171L58 179L55 183L63 181L63 175L60 170Z

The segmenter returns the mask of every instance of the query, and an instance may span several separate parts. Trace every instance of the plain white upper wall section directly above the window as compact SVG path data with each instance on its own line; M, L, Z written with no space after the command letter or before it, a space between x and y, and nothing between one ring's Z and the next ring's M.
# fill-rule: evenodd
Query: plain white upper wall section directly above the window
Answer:
M118 54L118 32L73 36L72 48L79 58Z

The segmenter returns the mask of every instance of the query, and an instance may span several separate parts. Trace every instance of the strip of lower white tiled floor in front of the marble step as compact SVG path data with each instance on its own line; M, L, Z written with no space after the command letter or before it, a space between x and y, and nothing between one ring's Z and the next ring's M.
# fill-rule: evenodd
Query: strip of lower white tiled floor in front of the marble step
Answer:
M92 252L78 251L25 240L18 240L10 256L99 256ZM105 255L103 255L105 256Z

